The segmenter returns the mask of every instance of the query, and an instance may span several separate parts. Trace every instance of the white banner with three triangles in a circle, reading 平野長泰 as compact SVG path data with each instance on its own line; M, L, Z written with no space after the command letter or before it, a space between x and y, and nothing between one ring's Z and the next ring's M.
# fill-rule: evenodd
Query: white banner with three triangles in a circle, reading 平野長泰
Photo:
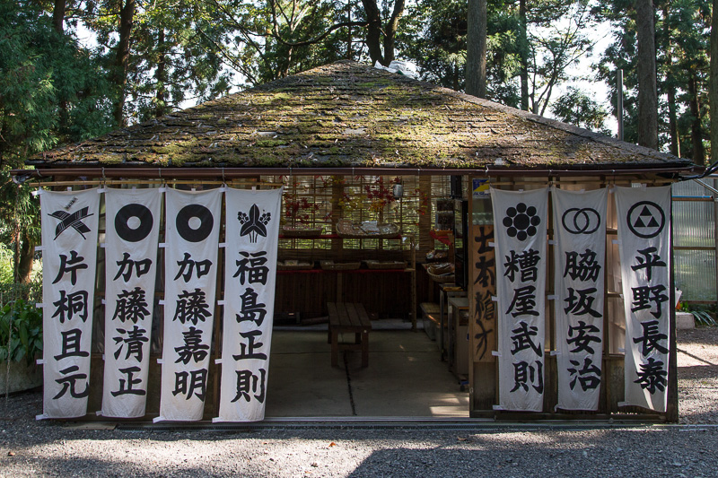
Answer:
M626 310L626 401L666 411L670 321L670 186L617 187Z

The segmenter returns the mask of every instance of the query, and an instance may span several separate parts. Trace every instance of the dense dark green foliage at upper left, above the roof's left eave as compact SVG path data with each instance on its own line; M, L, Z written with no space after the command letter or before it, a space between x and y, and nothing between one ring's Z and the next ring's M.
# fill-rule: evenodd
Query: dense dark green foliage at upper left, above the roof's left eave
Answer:
M111 127L100 59L58 34L41 4L0 0L0 166Z

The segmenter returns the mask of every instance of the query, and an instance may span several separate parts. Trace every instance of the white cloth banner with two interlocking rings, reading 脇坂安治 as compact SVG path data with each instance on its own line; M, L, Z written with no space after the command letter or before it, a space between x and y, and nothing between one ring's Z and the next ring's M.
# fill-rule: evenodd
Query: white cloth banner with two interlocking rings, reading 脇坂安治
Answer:
M552 190L556 365L563 410L598 410L608 189Z

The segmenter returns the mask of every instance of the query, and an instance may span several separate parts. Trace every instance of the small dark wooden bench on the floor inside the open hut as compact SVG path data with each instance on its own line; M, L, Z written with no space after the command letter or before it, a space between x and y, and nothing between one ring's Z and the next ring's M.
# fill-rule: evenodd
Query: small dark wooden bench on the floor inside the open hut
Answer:
M361 350L362 367L369 366L369 333L372 322L362 304L351 302L328 302L329 334L331 343L331 365L337 367L340 350ZM339 334L354 334L355 341L339 342Z

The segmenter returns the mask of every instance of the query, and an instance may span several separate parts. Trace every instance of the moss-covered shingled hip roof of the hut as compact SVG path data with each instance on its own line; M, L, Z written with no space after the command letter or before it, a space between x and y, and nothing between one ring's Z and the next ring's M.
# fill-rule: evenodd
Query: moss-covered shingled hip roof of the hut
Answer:
M342 61L45 152L38 167L661 168L690 163Z

